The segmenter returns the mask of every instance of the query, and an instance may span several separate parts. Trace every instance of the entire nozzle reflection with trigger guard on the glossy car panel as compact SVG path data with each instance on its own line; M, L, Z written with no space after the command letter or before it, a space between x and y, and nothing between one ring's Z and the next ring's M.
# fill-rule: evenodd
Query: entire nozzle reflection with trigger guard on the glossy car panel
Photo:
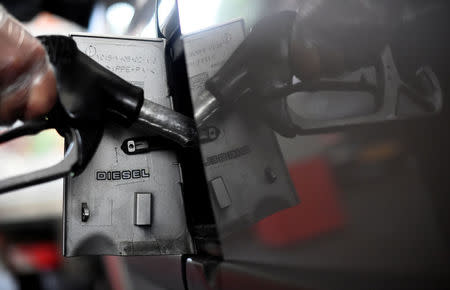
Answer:
M370 67L366 63L354 71L356 78L346 80L348 74L337 79L305 77L293 84L293 68L303 62L299 61L302 51L297 43L301 37L293 30L295 17L295 12L277 13L253 27L223 67L205 83L216 99L204 98L196 112L197 120L203 121L219 108L237 107L239 102L281 135L293 137L440 110L442 92L434 73L419 70L419 86L408 86L397 71L389 45L381 51L378 63ZM320 94L297 94L297 98L286 100L298 92Z

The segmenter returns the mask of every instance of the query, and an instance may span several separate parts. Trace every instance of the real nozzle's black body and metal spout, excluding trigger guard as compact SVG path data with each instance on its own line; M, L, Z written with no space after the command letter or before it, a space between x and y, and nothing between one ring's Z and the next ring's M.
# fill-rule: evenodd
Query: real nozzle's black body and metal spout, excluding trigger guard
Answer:
M70 126L93 126L112 119L124 126L135 121L182 146L196 144L195 122L149 100L144 91L78 50L65 36L41 36L58 82L58 117ZM55 111L54 110L54 111Z

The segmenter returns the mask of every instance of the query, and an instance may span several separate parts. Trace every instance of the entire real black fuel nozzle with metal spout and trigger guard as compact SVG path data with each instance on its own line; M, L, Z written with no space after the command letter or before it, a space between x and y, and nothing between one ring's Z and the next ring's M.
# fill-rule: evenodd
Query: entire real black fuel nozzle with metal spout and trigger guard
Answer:
M54 128L65 138L64 159L49 168L0 181L0 194L80 174L94 156L105 122L124 126L136 121L152 133L182 146L197 142L194 120L149 100L144 91L110 72L78 50L65 36L39 37L55 69L58 101L43 118L26 121L0 135L0 144Z

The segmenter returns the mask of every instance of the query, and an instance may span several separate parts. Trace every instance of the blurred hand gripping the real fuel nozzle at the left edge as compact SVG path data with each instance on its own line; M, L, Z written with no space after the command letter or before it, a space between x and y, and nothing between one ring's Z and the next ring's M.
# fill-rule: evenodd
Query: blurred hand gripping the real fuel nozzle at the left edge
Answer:
M44 47L0 5L0 121L43 115L56 96Z

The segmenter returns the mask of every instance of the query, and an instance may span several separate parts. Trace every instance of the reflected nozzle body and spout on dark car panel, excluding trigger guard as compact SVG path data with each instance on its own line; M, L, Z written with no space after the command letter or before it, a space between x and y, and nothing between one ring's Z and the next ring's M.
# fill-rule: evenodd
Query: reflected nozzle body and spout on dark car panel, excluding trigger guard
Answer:
M205 88L217 102L204 98L196 120L203 121L219 106L226 109L241 101L268 101L275 97L274 90L289 83L292 79L289 47L295 17L295 12L284 11L262 19L253 27L227 62L206 81Z

